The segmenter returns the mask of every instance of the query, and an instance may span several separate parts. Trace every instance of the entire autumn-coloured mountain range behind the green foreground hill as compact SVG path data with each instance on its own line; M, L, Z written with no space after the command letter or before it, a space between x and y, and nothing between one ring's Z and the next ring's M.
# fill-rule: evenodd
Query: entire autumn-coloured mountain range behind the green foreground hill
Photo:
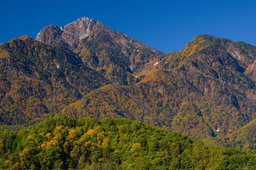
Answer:
M163 53L83 17L0 45L0 121L130 118L255 149L255 69L256 47L241 41L200 34Z

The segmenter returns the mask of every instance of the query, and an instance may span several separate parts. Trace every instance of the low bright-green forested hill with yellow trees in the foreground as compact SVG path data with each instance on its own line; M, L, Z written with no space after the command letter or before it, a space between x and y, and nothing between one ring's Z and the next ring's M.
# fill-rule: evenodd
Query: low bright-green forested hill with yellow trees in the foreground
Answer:
M0 129L1 169L255 169L255 159L124 118L54 117Z

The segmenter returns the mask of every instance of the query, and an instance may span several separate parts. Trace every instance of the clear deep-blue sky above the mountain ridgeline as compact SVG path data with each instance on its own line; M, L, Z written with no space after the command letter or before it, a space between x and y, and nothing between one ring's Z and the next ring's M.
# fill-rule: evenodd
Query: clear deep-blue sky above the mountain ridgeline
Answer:
M0 43L46 25L99 20L163 52L181 50L198 34L256 45L255 1L1 1Z

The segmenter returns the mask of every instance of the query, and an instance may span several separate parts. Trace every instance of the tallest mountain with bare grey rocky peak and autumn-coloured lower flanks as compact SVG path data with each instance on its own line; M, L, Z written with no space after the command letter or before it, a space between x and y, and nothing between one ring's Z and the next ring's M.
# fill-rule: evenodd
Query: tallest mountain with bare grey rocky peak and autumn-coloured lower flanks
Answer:
M121 85L127 85L131 76L137 78L147 73L145 64L164 54L87 17L63 27L49 25L38 33L36 40L73 50L84 64Z

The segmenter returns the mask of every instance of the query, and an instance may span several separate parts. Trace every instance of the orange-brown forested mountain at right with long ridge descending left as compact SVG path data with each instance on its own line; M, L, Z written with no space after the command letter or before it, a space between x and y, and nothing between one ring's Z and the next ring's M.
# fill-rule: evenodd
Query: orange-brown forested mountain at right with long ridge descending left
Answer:
M244 60L238 60L228 47L232 45L236 43L200 35L139 83L102 87L62 113L126 117L195 138L224 137L252 121L256 111L255 82L244 73L255 49L246 51L248 56L241 53ZM244 45L237 50L253 48Z

